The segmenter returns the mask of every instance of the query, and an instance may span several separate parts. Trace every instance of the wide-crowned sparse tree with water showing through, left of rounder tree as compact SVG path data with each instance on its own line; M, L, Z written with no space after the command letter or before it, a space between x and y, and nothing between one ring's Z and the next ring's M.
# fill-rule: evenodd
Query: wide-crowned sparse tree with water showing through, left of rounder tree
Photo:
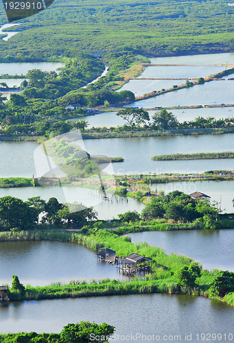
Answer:
M149 113L141 108L126 107L123 110L119 110L116 113L118 117L126 120L129 126L145 124L146 121L150 121Z

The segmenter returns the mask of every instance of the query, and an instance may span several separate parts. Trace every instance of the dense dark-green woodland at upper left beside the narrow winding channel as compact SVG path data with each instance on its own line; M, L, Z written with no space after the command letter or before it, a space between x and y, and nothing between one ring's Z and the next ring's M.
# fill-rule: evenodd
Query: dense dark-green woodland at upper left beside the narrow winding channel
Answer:
M71 124L61 120L92 114L87 106L134 101L132 92L117 93L110 87L119 80L116 73L136 59L133 54L114 54L108 75L86 88L81 87L104 70L102 60L90 54L78 53L73 58L66 58L66 66L59 74L40 69L28 71L20 95L12 93L10 101L4 104L5 97L0 94L0 134L48 137L72 128L86 128L84 121ZM75 110L66 108L71 104L78 104L78 107Z

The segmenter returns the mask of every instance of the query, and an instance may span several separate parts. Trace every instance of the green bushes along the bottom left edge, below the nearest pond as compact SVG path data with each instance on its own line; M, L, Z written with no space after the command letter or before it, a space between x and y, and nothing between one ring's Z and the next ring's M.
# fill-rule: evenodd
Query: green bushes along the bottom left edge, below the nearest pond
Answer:
M79 322L76 324L67 324L63 327L60 333L36 333L36 332L21 332L21 333L5 333L0 334L1 343L32 343L32 342L47 342L47 343L84 343L89 342L90 338L94 338L92 342L106 343L113 335L115 328L103 322L95 324L95 322ZM93 336L91 336L93 334Z

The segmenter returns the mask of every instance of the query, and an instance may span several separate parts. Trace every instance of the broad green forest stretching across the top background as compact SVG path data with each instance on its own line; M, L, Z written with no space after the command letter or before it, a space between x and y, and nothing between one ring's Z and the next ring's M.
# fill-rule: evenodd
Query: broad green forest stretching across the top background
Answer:
M1 43L2 60L45 60L80 50L100 56L120 47L154 56L230 51L233 7L215 0L58 0L16 29L19 34Z

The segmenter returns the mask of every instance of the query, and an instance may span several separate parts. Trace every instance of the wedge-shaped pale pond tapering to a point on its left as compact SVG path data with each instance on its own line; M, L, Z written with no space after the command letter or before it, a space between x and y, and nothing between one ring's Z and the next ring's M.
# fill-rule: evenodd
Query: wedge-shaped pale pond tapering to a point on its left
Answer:
M140 81L139 81L140 82ZM191 106L207 104L233 104L233 80L222 80L198 84L194 87L161 94L157 97L134 102L128 106L152 108L158 106Z

